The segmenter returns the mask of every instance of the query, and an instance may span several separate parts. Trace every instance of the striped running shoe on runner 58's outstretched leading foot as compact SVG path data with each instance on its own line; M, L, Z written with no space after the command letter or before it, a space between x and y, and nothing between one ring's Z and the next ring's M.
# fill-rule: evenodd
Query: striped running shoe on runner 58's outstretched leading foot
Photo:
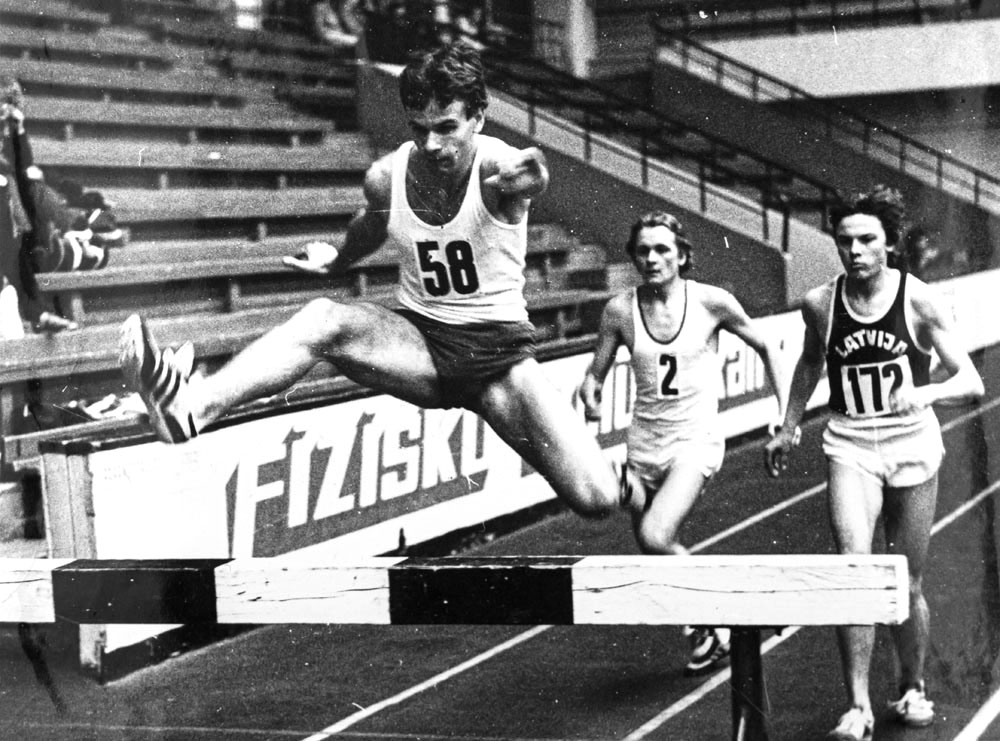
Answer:
M166 443L196 437L198 429L188 409L194 348L185 343L177 352L161 352L146 323L133 314L121 329L119 364L130 391L146 405L156 436Z

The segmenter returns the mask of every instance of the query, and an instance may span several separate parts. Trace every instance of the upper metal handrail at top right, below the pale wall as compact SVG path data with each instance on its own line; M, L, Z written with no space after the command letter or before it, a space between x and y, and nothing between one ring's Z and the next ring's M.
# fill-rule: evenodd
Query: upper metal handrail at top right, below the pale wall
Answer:
M664 28L659 20L654 20L652 25L658 47L678 50L683 69L700 65L712 75L717 84L728 82L742 86L754 101L795 101L796 112L819 119L829 138L833 139L840 133L844 135L842 140L864 154L895 167L901 173L916 175L977 206L1000 210L1000 178L849 108L821 100L802 88Z

